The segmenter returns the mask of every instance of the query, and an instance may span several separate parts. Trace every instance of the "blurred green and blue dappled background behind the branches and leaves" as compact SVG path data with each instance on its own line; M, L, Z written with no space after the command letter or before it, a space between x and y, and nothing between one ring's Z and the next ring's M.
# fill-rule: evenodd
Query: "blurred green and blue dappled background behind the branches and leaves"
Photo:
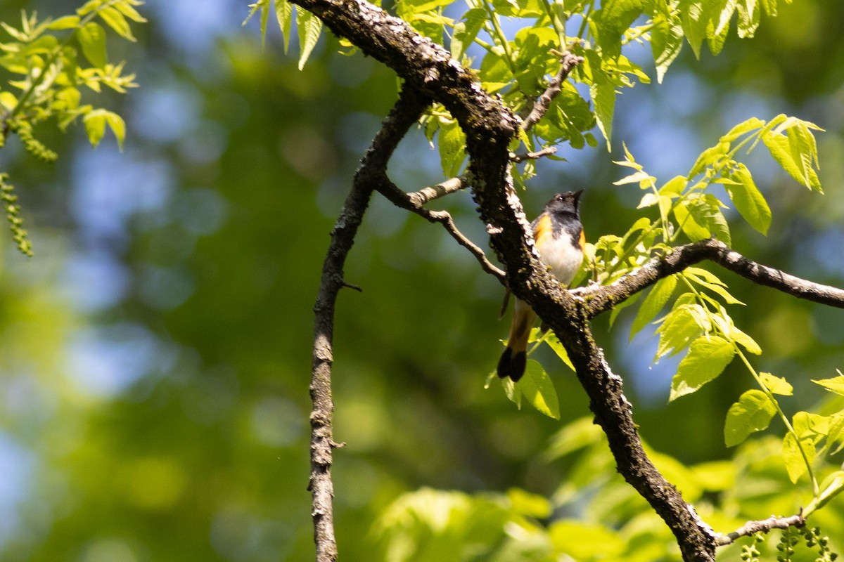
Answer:
M201 4L201 5L200 5ZM7 0L59 16L65 2ZM73 5L75 8L75 5ZM696 62L688 45L662 86L619 98L614 153L540 164L523 197L584 189L587 239L625 233L640 193L614 186L621 142L664 181L734 124L797 115L819 135L826 195L749 158L774 221L741 222L736 249L844 286L844 19L837 0L797 0L755 40ZM15 139L0 150L35 257L3 234L0 253L0 558L302 560L311 558L307 416L311 307L334 217L356 163L396 95L392 72L330 35L305 70L276 27L261 45L246 2L151 0L138 44L110 44L140 88L105 105L127 120L123 153L106 137L42 127L57 163ZM2 40L0 40L2 41ZM636 51L638 49L639 51ZM631 57L647 61L643 47ZM652 68L646 66L652 74ZM5 84L3 84L5 87ZM398 185L441 180L419 131L393 158ZM486 247L468 193L437 201ZM720 274L721 272L719 272ZM503 291L441 229L376 199L354 246L335 333L334 465L344 559L375 559L376 514L407 490L552 493L565 463L542 453L560 421L518 411L493 383ZM737 324L760 342L760 370L787 376L790 411L824 395L810 378L844 367L840 311L796 302L726 272L747 303ZM740 369L667 405L676 358L628 341L632 314L596 335L625 377L652 447L684 463L728 458L722 420L751 381ZM587 415L571 372L545 357L563 422ZM769 513L760 513L766 517Z

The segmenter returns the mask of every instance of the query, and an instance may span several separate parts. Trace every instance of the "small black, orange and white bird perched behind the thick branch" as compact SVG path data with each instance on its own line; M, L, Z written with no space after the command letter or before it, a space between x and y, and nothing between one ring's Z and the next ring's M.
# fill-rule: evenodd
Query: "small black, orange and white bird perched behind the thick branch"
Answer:
M539 260L563 286L569 286L583 261L586 238L580 222L580 195L583 191L558 193L545 204L542 213L531 222ZM536 313L527 302L516 299L507 347L498 361L498 376L517 382L527 365L527 338Z

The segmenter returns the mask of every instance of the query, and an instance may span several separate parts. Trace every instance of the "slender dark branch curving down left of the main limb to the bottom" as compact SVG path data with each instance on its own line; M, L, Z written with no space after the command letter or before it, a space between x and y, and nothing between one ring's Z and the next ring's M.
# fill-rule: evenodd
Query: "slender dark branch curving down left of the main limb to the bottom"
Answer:
M337 559L331 479L333 447L337 447L333 441L334 404L331 393L334 305L340 289L349 286L344 281L343 268L372 191L381 189L381 183L387 178L387 161L393 150L428 104L428 99L414 88L403 89L354 175L352 190L334 224L331 244L322 265L322 281L314 305L316 321L311 371L311 477L308 484L312 495L311 515L317 562L333 562Z

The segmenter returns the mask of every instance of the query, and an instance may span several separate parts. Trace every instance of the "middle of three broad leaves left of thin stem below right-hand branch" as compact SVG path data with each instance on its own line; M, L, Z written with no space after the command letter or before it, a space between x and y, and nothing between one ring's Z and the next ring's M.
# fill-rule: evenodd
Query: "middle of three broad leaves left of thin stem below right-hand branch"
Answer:
M733 361L734 355L733 344L717 335L704 336L693 341L671 381L668 401L693 393L709 383Z

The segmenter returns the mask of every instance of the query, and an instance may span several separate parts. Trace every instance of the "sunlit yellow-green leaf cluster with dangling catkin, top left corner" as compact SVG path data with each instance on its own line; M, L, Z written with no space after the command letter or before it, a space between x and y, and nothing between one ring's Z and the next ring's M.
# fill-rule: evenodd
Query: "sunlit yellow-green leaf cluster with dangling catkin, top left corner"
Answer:
M35 136L35 126L54 119L65 131L80 117L92 146L106 133L106 126L122 148L126 125L120 115L82 101L82 89L100 93L105 86L119 93L137 86L134 74L123 63L112 64L106 51L106 28L134 41L130 22L146 21L135 9L138 0L90 0L73 15L38 19L21 13L20 24L0 22L9 40L0 42L0 147L8 135L17 134L28 153L52 162L57 154ZM104 27L105 26L105 27ZM20 220L15 213L15 220ZM15 241L24 254L31 248L25 231L9 218ZM23 233L23 234L22 234Z

